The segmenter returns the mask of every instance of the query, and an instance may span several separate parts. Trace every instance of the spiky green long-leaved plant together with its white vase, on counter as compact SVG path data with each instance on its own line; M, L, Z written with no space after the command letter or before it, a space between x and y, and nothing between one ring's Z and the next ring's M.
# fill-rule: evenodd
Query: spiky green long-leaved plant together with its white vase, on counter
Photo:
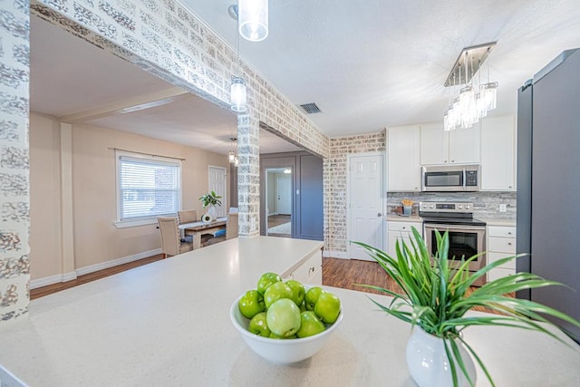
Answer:
M436 233L437 255L430 256L424 240L417 229L412 227L411 246L397 241L396 258L376 247L353 242L367 250L384 269L388 276L401 286L401 293L380 286L363 285L391 295L389 305L374 300L382 311L411 324L413 333L407 344L407 364L412 378L420 386L475 385L475 365L471 356L486 374L488 381L494 382L477 353L466 343L462 331L471 325L511 326L548 334L556 340L564 341L548 330L554 326L545 315L555 316L568 323L580 326L567 314L546 305L515 298L509 294L525 289L536 289L548 285L562 285L531 273L517 273L498 278L475 290L471 285L489 270L505 265L518 256L507 256L489 263L476 273L469 273L469 262L478 256L461 259L459 266L449 266L449 236ZM497 314L469 314L476 306L486 307ZM427 345L429 348L425 347ZM437 349L439 348L439 349ZM425 353L440 351L439 356L425 360ZM420 354L419 363L415 357ZM430 362L433 363L430 363ZM434 366L440 363L440 369ZM425 363L430 365L425 366Z

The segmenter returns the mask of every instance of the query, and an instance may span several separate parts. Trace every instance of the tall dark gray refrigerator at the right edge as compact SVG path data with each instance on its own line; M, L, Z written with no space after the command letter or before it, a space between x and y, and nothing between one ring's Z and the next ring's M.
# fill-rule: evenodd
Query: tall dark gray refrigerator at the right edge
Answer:
M517 296L580 320L580 49L558 55L518 91L517 253L530 254L517 271L572 287ZM580 343L579 328L553 321Z

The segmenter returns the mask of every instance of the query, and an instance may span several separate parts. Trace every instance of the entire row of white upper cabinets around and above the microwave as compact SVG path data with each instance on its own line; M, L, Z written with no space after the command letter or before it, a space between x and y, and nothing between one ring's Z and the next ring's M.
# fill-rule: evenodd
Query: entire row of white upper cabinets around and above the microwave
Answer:
M470 129L443 131L443 122L387 131L390 191L420 190L421 165L479 164L480 189L516 190L516 119L486 117Z

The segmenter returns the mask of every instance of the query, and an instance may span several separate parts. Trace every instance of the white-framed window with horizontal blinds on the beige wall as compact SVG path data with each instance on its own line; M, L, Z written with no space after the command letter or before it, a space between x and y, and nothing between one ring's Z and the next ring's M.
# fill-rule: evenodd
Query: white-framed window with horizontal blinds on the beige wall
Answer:
M117 221L137 223L175 215L181 206L181 161L116 152ZM143 223L141 223L143 224Z

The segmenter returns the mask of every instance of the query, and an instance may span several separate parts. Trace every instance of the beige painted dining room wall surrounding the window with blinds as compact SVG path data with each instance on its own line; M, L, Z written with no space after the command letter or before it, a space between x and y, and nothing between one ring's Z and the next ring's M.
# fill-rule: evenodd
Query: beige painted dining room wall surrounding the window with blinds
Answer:
M31 114L31 277L64 274L60 234L59 122ZM115 152L111 148L185 159L182 208L203 208L208 165L228 167L217 153L91 125L73 125L73 250L76 269L160 248L156 225L117 228ZM225 203L227 205L227 203ZM32 221L34 220L34 221ZM47 231L48 230L48 231Z

